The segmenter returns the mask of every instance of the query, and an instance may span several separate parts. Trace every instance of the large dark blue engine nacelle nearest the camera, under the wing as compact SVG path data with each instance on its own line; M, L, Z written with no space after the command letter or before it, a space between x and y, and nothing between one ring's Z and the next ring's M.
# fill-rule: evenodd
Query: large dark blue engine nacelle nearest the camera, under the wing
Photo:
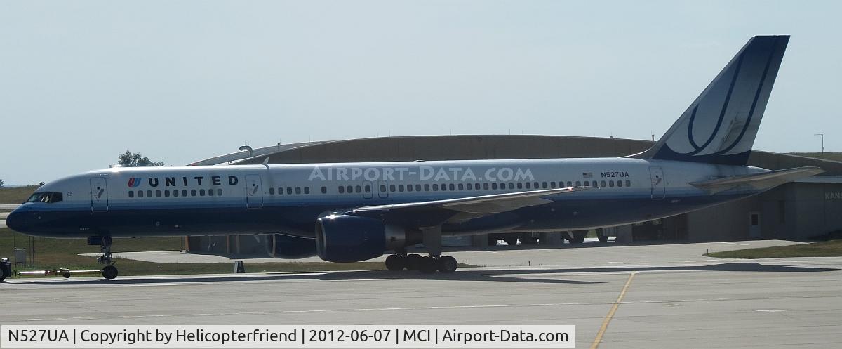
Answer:
M370 260L420 240L420 233L369 217L331 215L316 223L318 255L333 262Z

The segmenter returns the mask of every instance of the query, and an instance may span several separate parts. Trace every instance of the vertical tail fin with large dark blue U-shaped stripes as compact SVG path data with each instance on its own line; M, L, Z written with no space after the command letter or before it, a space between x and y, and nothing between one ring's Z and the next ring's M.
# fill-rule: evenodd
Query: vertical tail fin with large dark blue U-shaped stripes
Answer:
M746 164L788 41L788 35L751 38L669 131L636 157Z

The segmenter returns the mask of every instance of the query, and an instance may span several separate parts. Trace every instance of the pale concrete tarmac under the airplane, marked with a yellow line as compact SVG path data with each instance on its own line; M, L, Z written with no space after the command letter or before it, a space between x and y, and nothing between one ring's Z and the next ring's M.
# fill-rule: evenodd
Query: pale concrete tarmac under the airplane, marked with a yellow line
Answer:
M730 249L766 243L734 242ZM708 259L697 253L705 245L501 249L492 251L500 259L550 264L556 260L546 255L554 255L567 262L461 268L450 275L13 279L0 284L0 323L556 324L577 326L577 347L594 341L600 348L842 346L842 258Z

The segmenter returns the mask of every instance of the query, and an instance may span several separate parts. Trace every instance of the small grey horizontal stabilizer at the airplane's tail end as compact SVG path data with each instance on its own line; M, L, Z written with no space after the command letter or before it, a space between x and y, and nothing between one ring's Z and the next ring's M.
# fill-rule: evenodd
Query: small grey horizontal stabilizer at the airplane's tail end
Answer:
M824 170L819 169L818 167L798 167L795 169L779 169L762 174L734 175L717 180L694 182L690 183L690 185L693 185L703 191L707 191L710 194L727 191L736 188L739 185L749 185L749 187L754 190L766 190L793 180L818 175L823 172Z

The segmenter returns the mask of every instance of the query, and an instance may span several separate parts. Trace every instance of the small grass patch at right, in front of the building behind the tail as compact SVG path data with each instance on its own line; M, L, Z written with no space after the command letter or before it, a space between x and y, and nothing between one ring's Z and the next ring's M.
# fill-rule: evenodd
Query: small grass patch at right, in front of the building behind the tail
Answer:
M842 256L842 239L811 244L712 252L704 256L719 258L839 257Z

